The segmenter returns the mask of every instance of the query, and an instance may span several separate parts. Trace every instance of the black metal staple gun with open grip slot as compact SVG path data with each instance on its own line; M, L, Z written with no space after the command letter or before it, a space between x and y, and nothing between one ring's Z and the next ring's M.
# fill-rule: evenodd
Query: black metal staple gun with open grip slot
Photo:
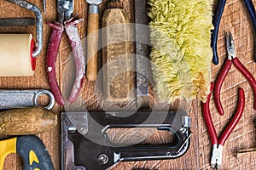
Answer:
M64 112L61 114L62 169L103 170L114 167L119 161L175 159L183 156L189 149L190 117L184 115L185 112L182 112L182 115L179 116L175 116L175 113L169 112L162 125L159 123L145 125L145 127L158 127L159 130L169 130L177 139L175 144L150 146L132 144L127 146L110 144L104 132L106 132L106 128L111 127L138 127L137 120L134 117L131 116L134 124L127 124L128 119L121 121L122 119L108 114L105 115L103 112ZM87 116L83 116L87 119L87 122L84 122L86 126L81 126L82 122L80 120L84 114L87 114ZM137 112L136 114L138 114L137 117L142 117L147 112ZM161 112L154 114L156 116L162 115ZM95 122L101 123L102 126L96 127L92 123L94 121L91 120L91 117ZM187 117L185 122L183 121L184 117ZM84 129L84 131L81 131L81 129Z

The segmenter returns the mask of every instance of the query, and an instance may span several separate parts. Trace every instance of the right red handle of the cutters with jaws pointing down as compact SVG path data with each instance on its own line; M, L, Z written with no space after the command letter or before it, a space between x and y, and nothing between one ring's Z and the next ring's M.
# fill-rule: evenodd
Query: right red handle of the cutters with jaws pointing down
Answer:
M245 105L245 95L242 88L238 89L238 105L236 108L235 115L232 117L231 121L229 122L228 126L225 127L224 132L221 134L219 138L219 144L224 145L225 141L229 138L230 134L236 127L236 124L239 122L242 116L242 112L244 110Z

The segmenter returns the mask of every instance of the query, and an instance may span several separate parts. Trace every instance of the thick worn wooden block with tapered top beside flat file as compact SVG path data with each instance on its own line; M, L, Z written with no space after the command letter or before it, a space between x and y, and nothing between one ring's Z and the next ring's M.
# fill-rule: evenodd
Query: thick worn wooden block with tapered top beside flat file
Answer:
M125 105L136 101L133 36L125 9L105 10L102 18L102 63L103 91L107 102Z

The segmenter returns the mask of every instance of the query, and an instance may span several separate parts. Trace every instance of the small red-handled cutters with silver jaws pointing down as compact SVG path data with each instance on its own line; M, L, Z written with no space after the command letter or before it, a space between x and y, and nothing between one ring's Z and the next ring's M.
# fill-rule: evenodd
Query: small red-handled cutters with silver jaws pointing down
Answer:
M244 110L244 105L245 105L245 96L244 96L243 89L239 88L239 91L238 91L239 97L238 97L238 105L236 108L236 112L234 116L231 118L227 127L225 127L223 133L218 138L212 122L212 116L210 114L210 108L209 108L212 88L213 88L213 82L211 84L211 93L208 94L207 96L207 102L202 103L202 111L203 111L204 120L206 122L207 131L209 133L209 136L212 142L211 166L214 168L217 164L217 168L219 168L222 164L222 151L224 148L224 143L229 138L230 133L232 133L232 131L236 127L236 124L241 119L242 112Z

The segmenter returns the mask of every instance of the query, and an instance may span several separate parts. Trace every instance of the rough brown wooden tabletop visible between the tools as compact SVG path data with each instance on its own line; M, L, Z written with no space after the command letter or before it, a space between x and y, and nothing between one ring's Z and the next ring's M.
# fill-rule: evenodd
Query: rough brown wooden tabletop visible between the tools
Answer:
M34 77L1 77L0 88L46 88L49 89L47 82L46 71L45 71L45 58L46 48L49 41L50 28L45 24L46 21L52 22L56 19L56 8L55 1L47 1L47 14L44 15L44 50L38 56L37 69ZM43 1L30 0L29 2L37 4L40 8L43 8ZM87 3L85 0L74 1L74 16L76 18L84 18L84 24L79 25L79 34L81 38L86 36L86 14L87 14ZM256 5L256 1L253 0ZM104 8L104 5L102 5ZM8 3L4 0L0 1L0 18L10 17L33 17L32 12L22 9L14 4ZM218 74L221 65L224 63L226 57L226 51L224 46L224 31L232 31L236 44L236 54L241 60L241 63L252 72L253 76L256 77L255 64L253 63L253 31L250 21L248 20L247 11L245 5L239 0L227 1L224 8L224 15L221 20L218 36L218 54L220 57L219 65L212 65L212 80ZM0 32L7 33L27 33L32 32L35 36L35 28L29 27L0 27ZM10 44L11 45L11 44ZM61 42L60 56L58 58L57 74L61 83L61 89L66 89L69 85L62 83L67 82L67 65L72 65L72 57L70 54L70 46L67 41L67 37L64 35ZM70 72L72 75L73 72ZM253 120L256 118L255 111L253 111L253 93L246 79L241 76L241 73L236 70L234 66L231 67L230 74L225 79L224 86L221 92L221 100L224 105L224 116L219 116L216 111L213 102L211 101L211 111L213 122L217 128L219 134L225 127L226 123L229 122L230 116L236 108L237 101L237 88L243 88L246 94L246 106L241 121L238 123L234 132L230 135L230 138L224 146L224 157L222 169L255 169L256 159L255 153L241 154L235 156L236 150L247 149L256 147L256 132L255 124ZM67 90L66 90L67 91ZM66 92L65 91L65 92ZM67 92L68 94L68 92ZM85 96L85 97L84 97ZM92 96L92 97L91 97ZM94 101L94 84L91 82L85 82L83 91L83 100ZM98 110L99 105L94 102L89 102L90 110ZM86 105L87 105L86 104ZM89 105L89 104L88 104ZM59 105L55 105L53 111L59 116L63 110ZM185 156L176 160L166 161L137 161L137 162L121 162L114 169L132 169L132 168L148 168L148 169L210 169L210 155L212 147L207 135L207 129L201 116L201 105L199 102L194 101L189 108L190 116L192 117L191 131L193 135L191 137L191 144L189 151ZM55 169L60 169L60 122L57 127L49 131L48 133L39 134L38 136L44 141L49 155L54 162ZM1 136L4 139L4 136ZM11 154L9 155L4 164L4 169L15 170L21 169L20 156Z

